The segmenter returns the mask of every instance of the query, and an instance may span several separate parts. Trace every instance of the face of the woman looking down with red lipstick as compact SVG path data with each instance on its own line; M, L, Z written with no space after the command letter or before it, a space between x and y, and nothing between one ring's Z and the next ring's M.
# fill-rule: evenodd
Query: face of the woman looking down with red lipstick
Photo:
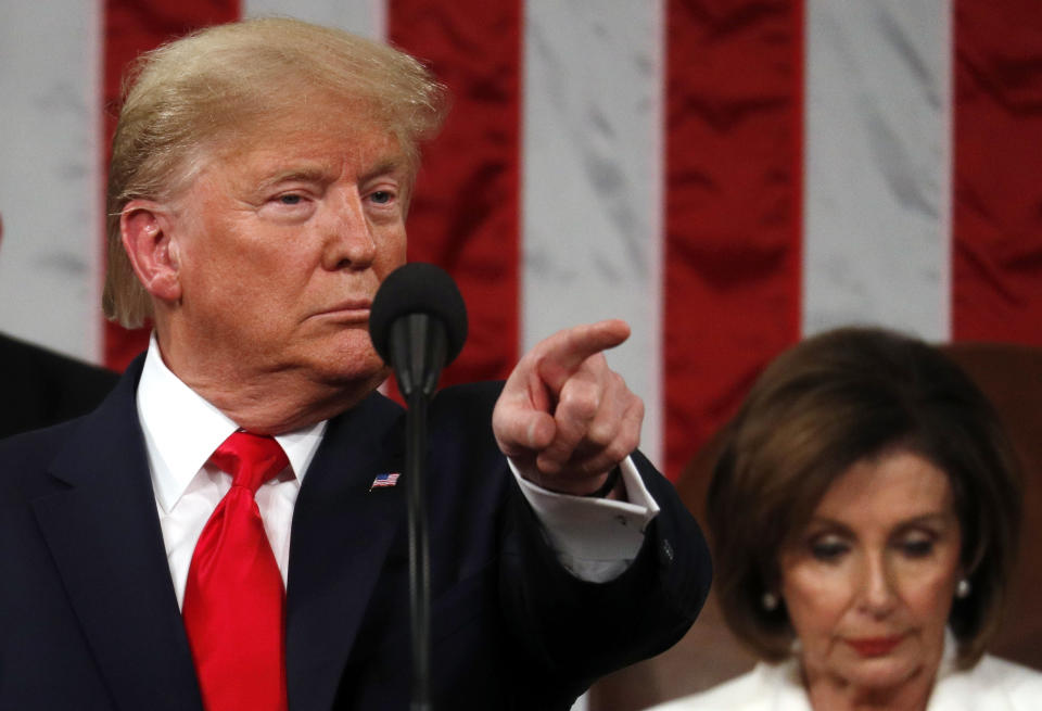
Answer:
M948 477L918 455L864 459L837 479L779 560L808 685L932 681L961 546Z

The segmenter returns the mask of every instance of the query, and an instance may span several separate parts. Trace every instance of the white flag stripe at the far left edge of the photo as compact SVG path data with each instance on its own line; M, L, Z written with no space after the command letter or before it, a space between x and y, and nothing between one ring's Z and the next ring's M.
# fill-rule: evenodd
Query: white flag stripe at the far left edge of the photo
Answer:
M0 22L0 330L101 360L101 5Z

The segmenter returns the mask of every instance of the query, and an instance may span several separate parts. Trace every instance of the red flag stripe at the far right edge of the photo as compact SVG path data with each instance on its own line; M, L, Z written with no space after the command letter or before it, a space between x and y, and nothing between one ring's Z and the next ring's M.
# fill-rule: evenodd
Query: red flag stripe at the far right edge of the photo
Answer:
M1042 13L955 2L952 335L1042 345Z

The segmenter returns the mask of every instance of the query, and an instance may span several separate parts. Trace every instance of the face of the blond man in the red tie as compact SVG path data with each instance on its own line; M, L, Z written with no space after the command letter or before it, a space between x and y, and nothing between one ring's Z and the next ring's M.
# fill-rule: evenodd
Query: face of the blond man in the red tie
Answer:
M411 174L357 110L303 105L218 145L174 201L181 300L167 346L202 358L203 378L350 383L382 370L369 307L405 262Z

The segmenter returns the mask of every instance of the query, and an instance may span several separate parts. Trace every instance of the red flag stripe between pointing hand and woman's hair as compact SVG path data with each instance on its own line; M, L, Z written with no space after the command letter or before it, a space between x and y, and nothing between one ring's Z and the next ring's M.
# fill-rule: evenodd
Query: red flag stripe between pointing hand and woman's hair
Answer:
M803 7L668 3L665 467L799 337Z

